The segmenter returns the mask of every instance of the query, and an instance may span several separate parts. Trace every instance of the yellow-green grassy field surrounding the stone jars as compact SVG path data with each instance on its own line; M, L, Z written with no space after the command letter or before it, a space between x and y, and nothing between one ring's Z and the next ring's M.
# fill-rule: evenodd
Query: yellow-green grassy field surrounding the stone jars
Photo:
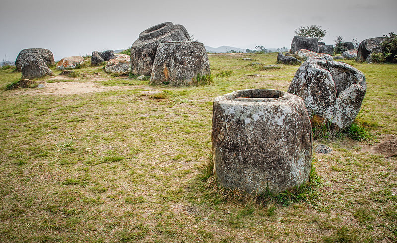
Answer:
M212 102L239 89L286 91L298 66L252 65L276 56L209 55L214 83L199 87L84 67L109 91L2 88L0 242L396 242L397 157L365 148L397 135L397 65L345 61L366 76L357 122L373 138L315 140L333 152L314 154L316 174L300 193L254 198L214 182ZM20 77L2 69L0 86Z

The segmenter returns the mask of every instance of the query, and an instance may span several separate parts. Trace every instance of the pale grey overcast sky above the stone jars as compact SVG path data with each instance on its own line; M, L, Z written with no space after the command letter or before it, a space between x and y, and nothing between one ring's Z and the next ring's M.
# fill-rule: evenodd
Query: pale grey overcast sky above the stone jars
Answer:
M0 61L25 48L55 60L127 49L143 30L182 24L211 47L291 46L294 30L320 25L323 39L359 41L397 32L397 0L1 0Z

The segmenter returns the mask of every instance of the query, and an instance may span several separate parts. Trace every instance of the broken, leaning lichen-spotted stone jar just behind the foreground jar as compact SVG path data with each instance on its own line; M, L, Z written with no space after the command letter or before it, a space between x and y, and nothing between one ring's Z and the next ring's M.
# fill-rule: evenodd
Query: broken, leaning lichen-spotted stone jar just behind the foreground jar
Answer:
M343 129L360 111L365 76L342 62L308 59L295 73L288 92L303 99L311 117L318 116Z

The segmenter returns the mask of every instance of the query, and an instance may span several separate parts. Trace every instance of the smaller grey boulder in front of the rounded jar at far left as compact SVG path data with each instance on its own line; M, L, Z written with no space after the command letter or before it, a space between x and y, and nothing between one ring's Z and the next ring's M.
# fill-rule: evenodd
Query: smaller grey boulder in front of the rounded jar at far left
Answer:
M52 75L45 61L37 54L24 54L20 60L22 79L35 79Z

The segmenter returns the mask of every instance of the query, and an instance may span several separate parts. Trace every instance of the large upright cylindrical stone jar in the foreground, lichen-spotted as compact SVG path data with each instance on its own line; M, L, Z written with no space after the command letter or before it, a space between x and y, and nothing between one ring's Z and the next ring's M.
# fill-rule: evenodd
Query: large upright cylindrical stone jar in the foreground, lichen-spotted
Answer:
M239 90L213 104L212 156L226 188L277 193L309 180L312 128L300 97Z

